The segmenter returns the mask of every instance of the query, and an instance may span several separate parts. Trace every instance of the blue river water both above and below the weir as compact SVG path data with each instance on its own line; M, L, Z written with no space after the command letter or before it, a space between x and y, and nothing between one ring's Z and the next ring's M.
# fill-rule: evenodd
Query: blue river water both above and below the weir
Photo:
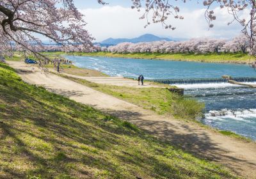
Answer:
M256 77L248 65L196 63L150 59L65 56L76 66L99 70L111 76L145 79L198 79ZM221 130L230 130L256 140L256 89L228 83L175 84L185 95L205 103L202 122Z

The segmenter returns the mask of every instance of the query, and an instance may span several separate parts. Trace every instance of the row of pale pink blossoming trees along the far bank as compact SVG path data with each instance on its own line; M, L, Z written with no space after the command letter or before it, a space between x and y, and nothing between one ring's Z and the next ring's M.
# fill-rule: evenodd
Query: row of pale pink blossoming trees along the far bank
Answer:
M214 38L193 38L184 42L141 42L141 43L119 43L115 46L96 47L94 51L115 53L193 53L207 54L212 52L243 52L249 51L249 39L244 35L237 36L233 40L220 40Z

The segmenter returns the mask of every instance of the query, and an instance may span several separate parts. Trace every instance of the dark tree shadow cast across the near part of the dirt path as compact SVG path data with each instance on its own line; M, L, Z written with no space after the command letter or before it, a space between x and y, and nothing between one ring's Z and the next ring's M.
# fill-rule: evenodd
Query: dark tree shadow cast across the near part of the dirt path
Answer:
M156 136L161 141L172 144L177 148L185 150L186 152L192 153L196 157L201 159L211 160L214 162L221 162L225 166L230 167L237 175L242 171L241 166L248 166L256 168L255 164L248 160L241 160L241 157L230 157L230 151L221 148L218 143L211 140L209 132L202 132L202 130L195 130L186 123L172 123L172 121L154 120L148 116L147 118L141 118L141 113L132 113L131 111L111 111L113 116L123 118L125 120L134 123L143 128L147 134ZM173 128L180 128L181 130L173 130ZM186 134L182 132L186 130ZM232 164L232 166L229 166Z

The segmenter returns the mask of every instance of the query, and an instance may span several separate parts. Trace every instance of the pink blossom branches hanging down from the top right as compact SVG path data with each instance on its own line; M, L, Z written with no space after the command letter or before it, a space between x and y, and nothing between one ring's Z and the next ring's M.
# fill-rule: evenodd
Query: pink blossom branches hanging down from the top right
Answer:
M165 28L175 29L172 24L168 24L168 18L174 17L175 19L184 19L184 17L179 15L179 7L174 6L173 1L168 0L132 0L132 8L136 8L138 11L145 8L145 12L141 16L141 19L147 19L147 27L150 22L148 20L148 15L150 12L153 14L152 22L161 23ZM180 2L186 3L186 0L181 0ZM195 1L199 3L199 1ZM220 6L221 10L227 11L234 18L228 24L234 22L235 20L243 26L242 32L249 39L249 51L250 54L256 59L256 1L255 0L205 0L203 1L204 6L207 8L205 11L205 18L209 24L209 27L214 27L214 20L216 20L216 15L214 15L214 10L211 10L212 6ZM248 19L241 17L240 12L244 10L250 10L250 15ZM186 18L186 17L185 17ZM183 44L184 45L184 44ZM219 51L219 47L216 48ZM253 62L255 63L255 62Z

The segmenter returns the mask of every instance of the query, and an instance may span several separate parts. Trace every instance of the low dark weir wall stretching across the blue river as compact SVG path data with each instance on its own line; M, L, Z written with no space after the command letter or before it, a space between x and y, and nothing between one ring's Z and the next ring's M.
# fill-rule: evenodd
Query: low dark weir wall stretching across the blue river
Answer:
M232 77L237 82L256 82L256 77ZM198 83L221 83L228 82L223 78L198 78L198 79L152 79L152 82L161 82L164 84L198 84Z

